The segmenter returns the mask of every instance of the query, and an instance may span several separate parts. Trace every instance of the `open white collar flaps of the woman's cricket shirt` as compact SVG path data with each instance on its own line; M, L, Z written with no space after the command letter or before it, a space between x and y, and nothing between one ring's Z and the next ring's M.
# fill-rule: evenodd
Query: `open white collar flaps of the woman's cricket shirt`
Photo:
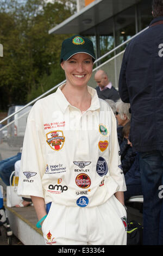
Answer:
M61 111L64 113L67 109L68 106L71 106L71 104L67 101L65 95L62 93L61 88L62 86L64 86L65 84L62 84L60 87L58 87L55 95L56 95L56 100L58 102L58 105L61 109ZM91 106L89 107L89 109L87 109L87 111L91 111L91 110L97 110L100 108L100 103L99 103L99 98L96 92L96 89L91 88L91 87L87 87L88 92L91 94L92 100L91 100Z

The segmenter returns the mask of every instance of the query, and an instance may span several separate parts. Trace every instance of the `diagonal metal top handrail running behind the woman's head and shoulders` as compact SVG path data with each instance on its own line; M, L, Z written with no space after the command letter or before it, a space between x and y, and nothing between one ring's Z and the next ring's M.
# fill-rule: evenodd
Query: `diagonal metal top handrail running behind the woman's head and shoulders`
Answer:
M118 48L122 47L123 45L126 45L129 41L131 41L133 38L135 38L137 35L141 34L142 32L146 31L146 29L148 29L149 27L146 27L145 29L143 29L142 31L140 31L139 33L131 36L131 38L129 38L128 40L122 42L122 44L116 46L114 49L112 49L111 51L105 53L102 57L99 57L98 59L95 60L94 64L99 62L99 60L105 58L106 56L108 56L109 54L111 54L112 52L115 52L116 50L118 50ZM97 68L96 68L97 69ZM66 83L66 80L62 81L61 83L57 84L57 86L54 86L53 88L49 89L46 93L41 94L39 97L36 97L36 99L34 99L33 101L30 101L27 105L25 105L24 107L18 109L16 112L10 114L8 117L4 118L3 120L0 121L0 124L3 123L4 121L6 121L7 119L11 118L13 115L17 114L18 112L22 111L24 108L32 105L33 103L35 103L37 100L41 99L42 97L46 96L47 94L51 93L53 90L55 90L56 88L58 88L59 86L61 86L62 84Z

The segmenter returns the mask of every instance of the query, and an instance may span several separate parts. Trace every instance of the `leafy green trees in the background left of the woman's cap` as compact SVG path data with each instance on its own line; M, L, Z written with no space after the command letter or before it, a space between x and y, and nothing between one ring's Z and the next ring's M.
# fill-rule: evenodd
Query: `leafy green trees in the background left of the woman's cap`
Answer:
M73 0L0 2L0 108L24 104L64 78L59 65L62 40L48 31L74 13ZM53 81L54 80L54 81ZM53 82L52 82L53 81Z

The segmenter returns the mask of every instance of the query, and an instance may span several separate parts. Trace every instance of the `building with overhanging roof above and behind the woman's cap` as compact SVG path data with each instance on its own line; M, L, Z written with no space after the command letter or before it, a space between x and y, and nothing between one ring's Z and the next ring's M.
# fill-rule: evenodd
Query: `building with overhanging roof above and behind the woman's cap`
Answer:
M77 0L77 13L49 33L91 36L100 57L146 28L151 20L150 0Z

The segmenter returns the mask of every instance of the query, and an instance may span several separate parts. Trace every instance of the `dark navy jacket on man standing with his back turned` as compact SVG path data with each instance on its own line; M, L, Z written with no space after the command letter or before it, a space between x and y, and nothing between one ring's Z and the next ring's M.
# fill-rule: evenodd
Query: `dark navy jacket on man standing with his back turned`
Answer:
M163 21L163 17L154 19ZM136 151L163 150L163 24L149 27L128 45L119 81L131 105L131 139Z

